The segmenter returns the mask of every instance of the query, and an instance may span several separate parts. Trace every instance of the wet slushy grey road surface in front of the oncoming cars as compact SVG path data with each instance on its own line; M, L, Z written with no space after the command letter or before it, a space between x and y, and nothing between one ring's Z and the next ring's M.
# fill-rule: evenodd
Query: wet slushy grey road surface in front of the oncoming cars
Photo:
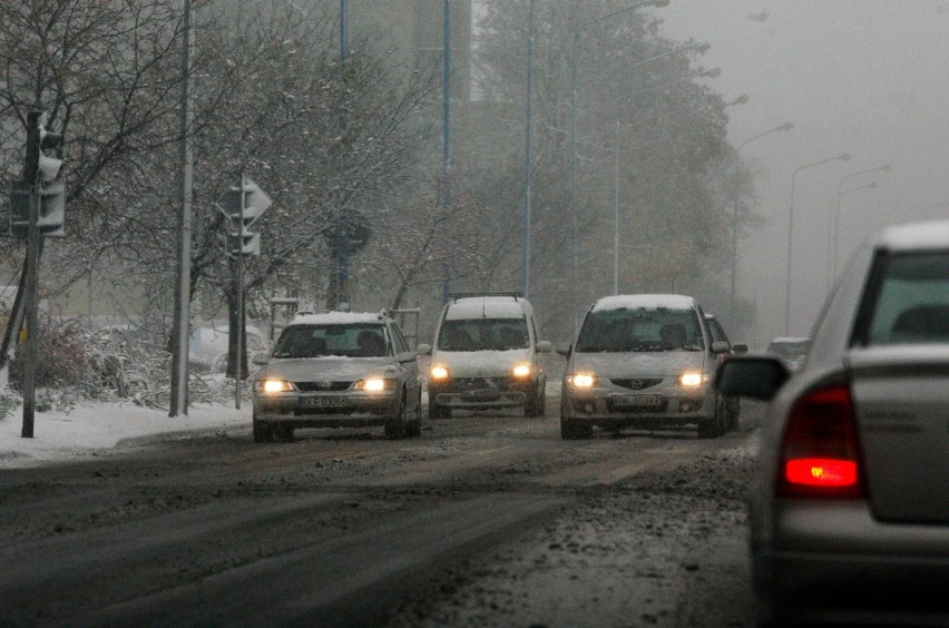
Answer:
M591 441L554 409L3 471L0 624L750 624L756 409L716 440Z

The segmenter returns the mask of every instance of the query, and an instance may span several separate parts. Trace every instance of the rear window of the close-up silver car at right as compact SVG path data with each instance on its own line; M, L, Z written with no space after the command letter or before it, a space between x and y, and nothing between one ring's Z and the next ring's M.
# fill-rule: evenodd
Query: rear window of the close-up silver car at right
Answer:
M897 255L881 266L868 344L949 343L949 253Z

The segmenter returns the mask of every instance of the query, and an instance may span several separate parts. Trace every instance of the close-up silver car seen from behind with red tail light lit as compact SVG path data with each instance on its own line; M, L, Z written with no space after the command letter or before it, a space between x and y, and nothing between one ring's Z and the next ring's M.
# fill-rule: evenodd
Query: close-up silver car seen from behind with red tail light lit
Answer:
M736 356L723 392L770 400L751 493L765 625L949 626L949 222L854 254L791 376Z

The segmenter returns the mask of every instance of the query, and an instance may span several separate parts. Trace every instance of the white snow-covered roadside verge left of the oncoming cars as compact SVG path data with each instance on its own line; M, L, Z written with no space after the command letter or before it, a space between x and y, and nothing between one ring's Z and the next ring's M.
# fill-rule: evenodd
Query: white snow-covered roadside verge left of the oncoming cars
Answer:
M69 412L37 412L33 438L22 438L23 411L0 419L0 469L91 458L157 434L251 425L251 404L193 405L186 416L131 403L86 403Z

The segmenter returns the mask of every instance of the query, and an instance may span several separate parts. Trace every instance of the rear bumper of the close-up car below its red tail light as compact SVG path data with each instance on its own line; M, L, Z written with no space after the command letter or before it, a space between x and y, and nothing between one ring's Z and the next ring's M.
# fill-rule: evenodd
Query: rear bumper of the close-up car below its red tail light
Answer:
M752 536L763 619L949 626L949 528L881 523L861 500L782 500Z

